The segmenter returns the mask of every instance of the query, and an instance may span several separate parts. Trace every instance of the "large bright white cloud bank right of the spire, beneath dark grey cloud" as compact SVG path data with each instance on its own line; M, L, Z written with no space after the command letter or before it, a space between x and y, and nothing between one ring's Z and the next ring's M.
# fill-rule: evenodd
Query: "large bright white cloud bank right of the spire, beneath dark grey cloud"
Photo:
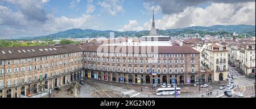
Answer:
M183 12L164 15L162 19L155 20L157 29L237 24L255 25L255 2L212 3L206 8L187 7ZM147 21L143 24L142 30L150 28L151 21Z

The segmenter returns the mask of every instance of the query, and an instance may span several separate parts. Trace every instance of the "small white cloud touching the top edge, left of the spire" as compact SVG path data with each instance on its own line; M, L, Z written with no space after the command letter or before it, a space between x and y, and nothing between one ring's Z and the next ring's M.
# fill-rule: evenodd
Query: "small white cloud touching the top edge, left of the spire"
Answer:
M104 0L99 1L98 5L102 7L101 11L107 12L108 14L115 16L118 12L124 12L122 3L123 0Z

